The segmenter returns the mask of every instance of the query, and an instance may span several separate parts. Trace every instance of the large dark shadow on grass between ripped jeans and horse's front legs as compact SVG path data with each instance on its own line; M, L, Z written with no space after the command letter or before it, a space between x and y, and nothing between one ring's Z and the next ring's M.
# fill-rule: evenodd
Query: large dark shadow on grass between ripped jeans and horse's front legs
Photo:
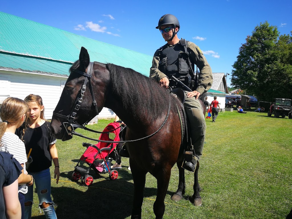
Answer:
M124 219L130 216L133 197L114 192L111 190L114 188L109 185L119 181L121 180L96 182L89 186L85 192L70 187L55 188L52 191L52 196L58 204L56 209L58 218ZM122 192L122 190L120 191Z

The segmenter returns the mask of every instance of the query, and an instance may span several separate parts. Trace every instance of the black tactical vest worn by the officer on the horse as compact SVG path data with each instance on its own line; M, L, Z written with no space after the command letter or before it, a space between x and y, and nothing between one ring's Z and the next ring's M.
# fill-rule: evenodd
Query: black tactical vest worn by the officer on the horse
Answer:
M189 55L185 53L185 47L180 42L170 47L165 44L159 48L159 71L166 74L168 78L174 76L177 79L184 79L186 76L190 76L187 64L188 57ZM194 69L194 64L192 64L192 68Z

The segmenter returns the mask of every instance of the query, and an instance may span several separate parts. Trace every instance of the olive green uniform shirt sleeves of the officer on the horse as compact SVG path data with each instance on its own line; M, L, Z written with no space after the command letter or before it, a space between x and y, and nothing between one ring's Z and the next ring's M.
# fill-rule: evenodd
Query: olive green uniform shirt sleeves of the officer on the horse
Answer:
M168 47L172 46L168 44ZM159 63L159 56L158 56L159 49L156 50L153 56L152 67L150 68L150 77L154 78L157 82L160 81L161 78L167 77L166 74L159 71L158 63ZM200 50L199 46L192 42L187 42L187 52L189 53L190 60L192 63L198 66L200 69L199 72L199 83L196 91L205 93L208 91L213 83L213 76L212 70L209 63L206 60L206 57L203 55L202 51ZM195 72L195 69L193 69ZM196 72L195 72L196 74Z

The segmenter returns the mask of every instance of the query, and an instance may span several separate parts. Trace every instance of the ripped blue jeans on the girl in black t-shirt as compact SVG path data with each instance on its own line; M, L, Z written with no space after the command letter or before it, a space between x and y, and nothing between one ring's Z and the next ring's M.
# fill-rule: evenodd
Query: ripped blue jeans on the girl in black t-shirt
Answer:
M34 183L36 185L37 195L39 197L39 207L43 202L50 203L51 205L47 208L42 208L46 218L57 219L57 215L54 209L55 203L51 198L51 173L50 169L42 170L36 173L29 173L34 178ZM28 186L28 192L25 194L25 202L31 201L33 203L33 185ZM31 219L32 217L32 205L25 206L25 219Z

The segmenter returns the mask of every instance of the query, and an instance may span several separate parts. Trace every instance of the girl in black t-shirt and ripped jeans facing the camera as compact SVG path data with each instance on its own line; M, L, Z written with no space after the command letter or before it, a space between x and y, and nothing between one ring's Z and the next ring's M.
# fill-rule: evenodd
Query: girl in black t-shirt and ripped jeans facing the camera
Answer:
M39 206L43 209L46 218L57 218L51 198L52 159L55 165L55 178L57 184L60 177L56 139L51 135L50 123L44 117L44 105L39 95L30 94L25 99L29 107L29 117L25 126L18 128L17 135L25 143L27 154L31 151L32 163L28 172L32 174L36 191L39 197ZM33 201L33 187L25 195L25 219L31 218Z

